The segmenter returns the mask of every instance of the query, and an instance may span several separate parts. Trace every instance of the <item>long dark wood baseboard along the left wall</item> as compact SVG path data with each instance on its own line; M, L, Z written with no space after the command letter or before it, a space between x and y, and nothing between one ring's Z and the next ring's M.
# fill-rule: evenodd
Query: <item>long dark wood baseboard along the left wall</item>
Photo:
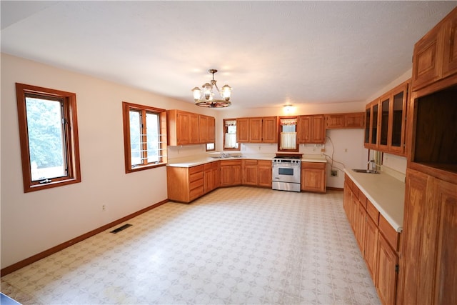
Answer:
M118 219L116 221L110 222L109 224L105 224L104 226L101 226L101 227L99 227L99 228L97 228L95 230L89 231L86 234L83 234L81 236L75 237L74 239L70 239L69 241L65 241L64 243L59 244L57 246L53 246L51 249L47 249L47 250L45 250L43 252L40 252L39 254L35 254L34 256L30 256L27 259L24 259L22 261L18 261L15 264L12 264L10 266L5 267L4 269L1 269L0 270L0 274L1 274L1 276L5 276L6 274L10 274L11 272L14 272L14 271L19 270L19 269L21 269L21 268L23 268L23 267L25 267L25 266L27 266L27 265L29 265L31 263L34 263L35 261L39 261L40 259L44 259L46 256L49 256L49 255L54 254L56 252L59 252L59 251L65 249L65 248L67 248L67 247L69 247L69 246L71 246L73 244L79 243L79 241L84 241L84 239L88 239L91 236L99 234L99 233L111 228L112 226L117 226L118 224L121 224L124 221L132 219L132 218L134 218L136 216L139 216L140 214L143 214L146 211L154 209L157 206L161 206L162 204L166 204L166 202L168 202L168 201L169 201L169 199L165 199L163 201L160 201L159 203L153 204L153 205L148 206L148 207L146 207L144 209L136 211L135 213L132 213L132 214L127 215L127 216L124 216L121 219Z

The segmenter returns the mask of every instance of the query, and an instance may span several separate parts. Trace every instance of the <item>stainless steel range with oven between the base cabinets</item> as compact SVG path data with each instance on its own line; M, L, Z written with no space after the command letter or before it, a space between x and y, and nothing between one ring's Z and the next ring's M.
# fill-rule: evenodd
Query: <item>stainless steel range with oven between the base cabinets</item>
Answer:
M301 158L299 156L276 156L272 164L272 189L300 191Z

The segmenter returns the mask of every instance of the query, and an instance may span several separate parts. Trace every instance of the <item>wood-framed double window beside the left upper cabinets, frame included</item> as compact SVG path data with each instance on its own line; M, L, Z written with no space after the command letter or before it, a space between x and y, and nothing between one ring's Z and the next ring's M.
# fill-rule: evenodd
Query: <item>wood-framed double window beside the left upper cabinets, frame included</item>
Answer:
M166 110L122 102L126 173L166 164Z

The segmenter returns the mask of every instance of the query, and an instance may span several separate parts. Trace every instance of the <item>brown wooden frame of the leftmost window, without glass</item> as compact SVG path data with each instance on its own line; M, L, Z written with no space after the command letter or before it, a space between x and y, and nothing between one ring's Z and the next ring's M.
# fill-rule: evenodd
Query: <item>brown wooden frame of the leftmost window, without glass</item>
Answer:
M28 95L53 101L61 100L61 103L63 104L64 110L62 111L62 115L64 116L65 121L63 136L66 139L66 145L64 146L67 165L66 176L45 179L43 181L32 181L31 179L29 127L27 126L26 113L26 96ZM67 91L16 83L16 101L19 119L19 142L21 146L24 193L81 182L76 94Z

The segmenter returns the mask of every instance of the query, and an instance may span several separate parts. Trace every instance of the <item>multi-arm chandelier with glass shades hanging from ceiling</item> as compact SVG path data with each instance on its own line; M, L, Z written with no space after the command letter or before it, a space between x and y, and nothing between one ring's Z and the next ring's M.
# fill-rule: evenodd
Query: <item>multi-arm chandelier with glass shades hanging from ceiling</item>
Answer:
M219 90L216 80L214 79L214 74L217 70L209 69L208 71L213 74L213 79L211 79L210 83L205 83L201 86L201 89L199 87L192 89L192 92L194 92L195 104L197 106L209 108L223 108L230 106L231 87L229 85L224 85L221 90ZM213 88L216 88L219 96L221 96L221 99L215 98Z

